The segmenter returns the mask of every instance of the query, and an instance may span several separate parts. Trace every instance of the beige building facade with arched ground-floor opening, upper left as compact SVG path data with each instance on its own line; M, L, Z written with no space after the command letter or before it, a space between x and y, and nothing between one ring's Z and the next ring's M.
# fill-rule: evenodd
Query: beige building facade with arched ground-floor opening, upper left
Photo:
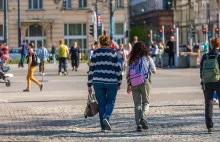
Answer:
M3 40L4 12L3 1L0 0L0 40ZM70 47L77 41L79 47L88 49L94 42L90 35L93 25L96 0L66 0L63 10L62 0L20 0L21 37L27 42L34 42L35 48L44 44L50 48L52 42L58 44L61 38ZM106 3L107 2L107 3ZM128 27L127 0L114 0L115 6L115 38L126 42ZM101 15L102 31L109 35L110 14L109 3L98 3ZM8 1L8 45L18 47L18 13L17 1Z

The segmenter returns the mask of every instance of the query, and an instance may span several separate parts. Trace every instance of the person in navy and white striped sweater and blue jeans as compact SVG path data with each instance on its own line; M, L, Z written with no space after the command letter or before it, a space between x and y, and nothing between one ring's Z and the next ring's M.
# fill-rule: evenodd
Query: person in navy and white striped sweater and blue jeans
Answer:
M110 117L114 109L117 91L120 89L122 74L116 51L110 48L108 36L99 38L101 48L92 55L88 75L88 91L95 90L99 106L101 131L111 130Z

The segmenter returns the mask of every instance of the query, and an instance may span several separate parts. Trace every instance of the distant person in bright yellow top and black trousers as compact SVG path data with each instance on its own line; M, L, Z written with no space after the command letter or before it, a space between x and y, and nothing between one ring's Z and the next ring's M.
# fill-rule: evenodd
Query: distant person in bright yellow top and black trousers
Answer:
M67 75L67 57L69 55L69 49L68 47L64 44L64 39L61 39L59 41L60 43L60 48L59 48L59 75L62 75L61 69L63 68L64 70L64 75Z

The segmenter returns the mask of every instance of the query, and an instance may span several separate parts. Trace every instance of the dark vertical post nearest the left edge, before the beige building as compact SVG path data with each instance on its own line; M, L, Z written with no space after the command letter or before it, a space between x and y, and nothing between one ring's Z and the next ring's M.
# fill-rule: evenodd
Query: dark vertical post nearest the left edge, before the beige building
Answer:
M4 42L8 45L8 5L4 0Z

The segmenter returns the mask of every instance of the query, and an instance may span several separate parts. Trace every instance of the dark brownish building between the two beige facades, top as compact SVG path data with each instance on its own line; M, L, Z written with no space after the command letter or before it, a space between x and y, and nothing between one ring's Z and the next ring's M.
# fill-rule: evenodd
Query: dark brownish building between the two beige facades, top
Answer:
M165 39L173 35L172 0L133 0L130 3L130 22L153 31L153 40L160 41L159 31L164 26ZM143 23L140 23L140 21ZM147 34L146 34L147 35ZM147 36L146 36L147 38Z

